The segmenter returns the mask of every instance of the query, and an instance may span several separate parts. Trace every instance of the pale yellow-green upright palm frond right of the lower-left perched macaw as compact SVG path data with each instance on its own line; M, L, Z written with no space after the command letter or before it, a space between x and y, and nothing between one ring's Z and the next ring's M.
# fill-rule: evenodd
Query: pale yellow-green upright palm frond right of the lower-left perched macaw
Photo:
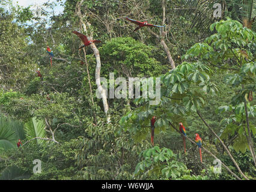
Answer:
M35 137L46 137L46 131L44 130L45 124L42 120L37 120L36 118L29 119L28 122L24 125L24 130L26 134L26 138L33 139ZM37 144L45 143L45 140L36 139Z

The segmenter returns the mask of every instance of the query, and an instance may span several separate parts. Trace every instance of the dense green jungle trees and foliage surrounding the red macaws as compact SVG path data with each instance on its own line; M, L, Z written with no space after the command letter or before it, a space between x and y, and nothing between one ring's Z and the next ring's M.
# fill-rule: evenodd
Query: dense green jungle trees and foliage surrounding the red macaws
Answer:
M255 5L0 1L0 179L256 179ZM164 27L133 31L126 17ZM101 42L79 50L73 31ZM111 98L111 85L120 91L111 74L127 86L152 77L154 88L159 77L159 103L142 97L142 84L139 98Z

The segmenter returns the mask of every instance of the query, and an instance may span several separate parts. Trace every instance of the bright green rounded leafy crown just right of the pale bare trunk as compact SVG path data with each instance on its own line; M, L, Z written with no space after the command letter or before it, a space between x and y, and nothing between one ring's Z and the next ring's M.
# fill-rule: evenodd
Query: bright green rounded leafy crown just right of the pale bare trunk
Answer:
M156 49L130 37L112 38L100 47L102 62L118 76L156 76L166 68L153 58Z

